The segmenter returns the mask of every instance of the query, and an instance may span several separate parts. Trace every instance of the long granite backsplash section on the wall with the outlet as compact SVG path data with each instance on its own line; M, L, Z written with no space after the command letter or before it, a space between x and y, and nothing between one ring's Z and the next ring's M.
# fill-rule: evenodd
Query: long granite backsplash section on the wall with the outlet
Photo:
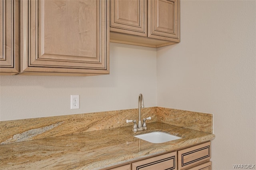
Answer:
M156 107L142 109L141 118L149 116L156 121ZM0 121L0 144L128 126L126 119L138 120L138 109Z

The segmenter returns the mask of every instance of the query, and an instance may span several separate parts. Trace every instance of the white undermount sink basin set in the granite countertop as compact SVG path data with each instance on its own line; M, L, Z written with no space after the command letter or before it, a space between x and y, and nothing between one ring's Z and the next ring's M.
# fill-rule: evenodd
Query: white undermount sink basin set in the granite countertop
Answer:
M134 137L140 138L142 140L146 140L151 143L164 143L169 142L176 139L181 139L178 136L174 136L165 132L150 132L145 134L138 134Z

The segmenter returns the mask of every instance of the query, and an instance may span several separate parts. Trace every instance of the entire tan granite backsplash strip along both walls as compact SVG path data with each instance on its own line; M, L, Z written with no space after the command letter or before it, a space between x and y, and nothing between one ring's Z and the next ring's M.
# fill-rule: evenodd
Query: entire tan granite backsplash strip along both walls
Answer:
M149 116L152 120L148 120L147 123L161 122L212 133L212 114L163 107L148 107L141 110L142 119ZM124 127L129 125L125 122L126 119L138 121L138 109L0 121L0 145Z

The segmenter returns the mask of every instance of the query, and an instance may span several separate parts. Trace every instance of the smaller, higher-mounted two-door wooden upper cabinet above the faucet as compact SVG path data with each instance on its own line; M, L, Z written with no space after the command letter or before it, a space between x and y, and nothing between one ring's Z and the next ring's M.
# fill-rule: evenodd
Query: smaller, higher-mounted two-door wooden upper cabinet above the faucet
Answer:
M180 42L180 0L110 0L110 42L147 47Z

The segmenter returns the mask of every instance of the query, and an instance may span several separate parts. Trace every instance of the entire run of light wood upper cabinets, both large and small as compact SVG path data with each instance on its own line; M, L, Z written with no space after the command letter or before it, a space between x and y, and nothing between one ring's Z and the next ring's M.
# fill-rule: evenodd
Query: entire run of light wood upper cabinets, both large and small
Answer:
M0 75L109 73L109 42L180 42L180 0L1 0Z

